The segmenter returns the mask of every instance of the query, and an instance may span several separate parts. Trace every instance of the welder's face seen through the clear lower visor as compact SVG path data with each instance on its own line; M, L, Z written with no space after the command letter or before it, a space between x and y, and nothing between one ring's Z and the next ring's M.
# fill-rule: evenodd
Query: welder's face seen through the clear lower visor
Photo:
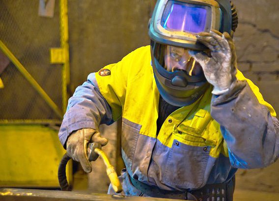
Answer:
M188 51L180 47L165 46L164 68L169 72L182 70L190 76L203 73L200 64L189 55Z

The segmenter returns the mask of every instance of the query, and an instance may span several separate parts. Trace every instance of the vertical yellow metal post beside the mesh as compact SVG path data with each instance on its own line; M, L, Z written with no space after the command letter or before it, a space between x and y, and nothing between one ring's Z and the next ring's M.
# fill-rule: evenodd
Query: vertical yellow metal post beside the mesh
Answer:
M68 2L60 0L60 43L65 51L65 62L62 70L62 105L63 112L67 109L67 86L70 84L70 61L69 61L69 30L68 30Z

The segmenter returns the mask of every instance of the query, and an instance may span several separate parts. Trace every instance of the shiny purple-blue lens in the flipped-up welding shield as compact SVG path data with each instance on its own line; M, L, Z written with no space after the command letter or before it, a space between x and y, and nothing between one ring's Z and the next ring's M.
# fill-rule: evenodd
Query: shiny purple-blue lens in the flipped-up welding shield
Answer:
M205 30L209 6L169 0L161 26L169 31L198 33Z

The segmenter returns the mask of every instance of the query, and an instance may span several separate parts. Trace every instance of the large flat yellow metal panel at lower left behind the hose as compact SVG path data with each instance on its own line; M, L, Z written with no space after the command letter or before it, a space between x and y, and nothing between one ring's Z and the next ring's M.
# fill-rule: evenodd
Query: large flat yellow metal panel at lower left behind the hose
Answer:
M0 125L0 186L59 187L57 170L65 153L57 131L42 125ZM67 165L67 178L72 180Z

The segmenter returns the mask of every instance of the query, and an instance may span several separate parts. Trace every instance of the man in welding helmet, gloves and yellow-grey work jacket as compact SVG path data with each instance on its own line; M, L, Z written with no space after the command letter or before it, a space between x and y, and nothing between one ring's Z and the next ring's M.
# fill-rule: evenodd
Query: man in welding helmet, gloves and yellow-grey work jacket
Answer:
M90 74L69 99L68 155L91 172L86 145L106 145L99 124L122 117L125 195L232 201L238 168L279 155L275 111L237 71L236 26L229 0L158 0L151 46Z

